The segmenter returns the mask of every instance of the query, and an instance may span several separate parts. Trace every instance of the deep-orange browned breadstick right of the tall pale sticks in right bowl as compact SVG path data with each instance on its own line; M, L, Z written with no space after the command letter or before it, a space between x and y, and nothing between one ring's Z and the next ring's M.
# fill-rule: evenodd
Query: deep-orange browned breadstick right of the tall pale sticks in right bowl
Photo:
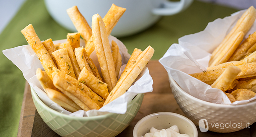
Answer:
M243 43L241 43L234 54L228 59L228 61L239 61L246 56L247 50L256 43L256 32L251 34Z

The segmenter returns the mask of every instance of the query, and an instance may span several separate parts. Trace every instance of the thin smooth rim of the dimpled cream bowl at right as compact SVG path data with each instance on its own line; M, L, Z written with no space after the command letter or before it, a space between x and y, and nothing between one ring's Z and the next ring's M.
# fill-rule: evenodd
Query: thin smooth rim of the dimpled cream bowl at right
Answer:
M224 108L230 108L230 107L234 107L234 108L235 108L235 107L237 107L237 106L243 107L243 106L249 106L249 105L251 105L251 104L256 104L256 100L250 101L250 102L244 103L244 104L237 104L237 105L216 104L216 103L211 103L211 102L203 101L203 100L201 100L201 99L198 99L198 98L196 98L196 97L191 96L190 94L188 94L187 92L185 92L184 90L182 90L182 89L180 88L180 86L178 86L178 84L176 83L176 81L175 81L171 76L169 76L169 80L171 81L171 83L173 83L173 85L174 85L174 87L175 87L176 89L178 89L180 92L184 93L187 97L189 97L189 98L191 98L191 99L193 99L193 100L195 100L195 101L198 101L198 102L200 102L200 103L204 103L204 104L206 104L206 105L215 106L215 107L224 107Z

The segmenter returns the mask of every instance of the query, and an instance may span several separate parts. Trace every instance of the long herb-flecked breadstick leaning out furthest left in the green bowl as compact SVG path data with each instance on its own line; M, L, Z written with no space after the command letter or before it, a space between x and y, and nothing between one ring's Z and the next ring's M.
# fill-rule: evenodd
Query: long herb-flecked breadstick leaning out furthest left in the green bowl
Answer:
M37 34L33 26L30 24L24 29L22 29L21 33L26 38L27 42L29 43L30 47L34 50L35 54L39 58L43 68L45 68L46 74L52 79L52 67L56 67L52 57L50 56L49 52L45 49L45 46L38 38Z

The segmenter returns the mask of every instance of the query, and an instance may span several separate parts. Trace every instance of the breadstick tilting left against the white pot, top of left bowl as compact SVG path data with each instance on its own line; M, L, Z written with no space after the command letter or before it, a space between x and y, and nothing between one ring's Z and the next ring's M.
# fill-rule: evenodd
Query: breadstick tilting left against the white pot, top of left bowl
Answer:
M85 43L91 38L92 30L83 15L78 10L77 6L67 9L69 18L72 20L76 30L81 34Z

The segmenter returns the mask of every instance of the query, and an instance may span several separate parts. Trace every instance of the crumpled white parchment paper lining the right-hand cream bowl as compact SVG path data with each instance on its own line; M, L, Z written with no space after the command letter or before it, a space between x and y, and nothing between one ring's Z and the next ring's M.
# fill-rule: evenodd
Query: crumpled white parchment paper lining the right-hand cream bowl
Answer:
M236 25L237 20L245 10L238 11L223 19L216 19L208 23L204 31L179 38L178 44L173 44L159 60L169 76L188 94L198 99L217 104L232 104L228 97L217 88L193 78L188 74L203 72L208 67L211 52L221 43L226 34ZM256 31L256 22L252 25L249 34ZM236 101L232 105L243 104L255 100Z

